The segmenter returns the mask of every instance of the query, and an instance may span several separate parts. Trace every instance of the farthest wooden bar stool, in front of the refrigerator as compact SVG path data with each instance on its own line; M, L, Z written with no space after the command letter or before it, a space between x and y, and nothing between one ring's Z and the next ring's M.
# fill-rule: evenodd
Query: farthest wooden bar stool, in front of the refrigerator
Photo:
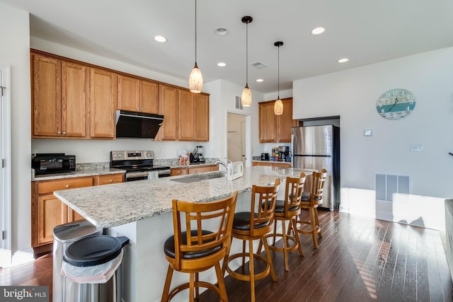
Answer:
M308 209L310 220L302 221L300 217L297 219L297 223L302 228L294 228L295 231L302 234L311 234L313 238L314 248L318 248L318 238L323 237L321 233L321 226L319 226L318 219L318 206L323 203L323 188L326 182L327 170L323 169L321 172L314 172L311 175L311 191L302 193L302 201L300 203L301 209ZM304 228L305 225L309 225L309 229ZM291 227L288 229L288 233L291 231Z

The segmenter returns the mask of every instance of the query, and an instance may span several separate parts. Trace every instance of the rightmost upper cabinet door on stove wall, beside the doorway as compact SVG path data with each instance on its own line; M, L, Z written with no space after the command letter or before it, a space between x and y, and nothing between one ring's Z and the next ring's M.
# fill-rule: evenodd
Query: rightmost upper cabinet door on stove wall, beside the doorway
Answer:
M194 100L194 124L193 136L195 141L210 140L210 98L208 95L195 94Z

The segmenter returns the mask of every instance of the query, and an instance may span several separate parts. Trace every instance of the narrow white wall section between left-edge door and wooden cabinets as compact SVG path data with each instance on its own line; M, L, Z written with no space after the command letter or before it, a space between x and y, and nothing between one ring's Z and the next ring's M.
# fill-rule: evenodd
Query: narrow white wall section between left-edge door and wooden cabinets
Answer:
M0 68L11 66L11 247L30 244L30 38L28 13L0 4ZM25 118L24 118L25 117ZM14 219L14 217L24 219Z

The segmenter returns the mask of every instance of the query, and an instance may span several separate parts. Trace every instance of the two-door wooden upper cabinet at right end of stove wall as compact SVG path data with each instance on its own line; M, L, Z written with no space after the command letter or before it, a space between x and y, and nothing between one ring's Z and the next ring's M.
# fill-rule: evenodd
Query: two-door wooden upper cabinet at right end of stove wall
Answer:
M209 141L209 97L180 89L178 96L178 140Z

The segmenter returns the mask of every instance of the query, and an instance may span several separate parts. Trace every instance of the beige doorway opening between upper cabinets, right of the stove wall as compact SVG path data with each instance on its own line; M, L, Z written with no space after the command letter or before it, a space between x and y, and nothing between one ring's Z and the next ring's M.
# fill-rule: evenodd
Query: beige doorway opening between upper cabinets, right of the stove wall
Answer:
M246 167L246 116L228 112L227 155L230 161L241 161Z

